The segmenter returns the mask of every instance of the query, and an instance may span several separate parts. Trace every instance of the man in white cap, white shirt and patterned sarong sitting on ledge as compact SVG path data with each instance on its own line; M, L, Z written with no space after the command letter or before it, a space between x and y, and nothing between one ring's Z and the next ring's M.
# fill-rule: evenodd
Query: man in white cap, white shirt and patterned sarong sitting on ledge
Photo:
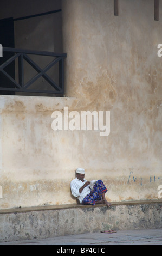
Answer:
M95 204L111 204L107 202L105 193L107 188L103 184L102 180L97 180L94 187L89 187L90 181L85 180L85 169L77 168L76 178L70 182L70 188L74 197L79 199L79 202L83 205L95 205Z

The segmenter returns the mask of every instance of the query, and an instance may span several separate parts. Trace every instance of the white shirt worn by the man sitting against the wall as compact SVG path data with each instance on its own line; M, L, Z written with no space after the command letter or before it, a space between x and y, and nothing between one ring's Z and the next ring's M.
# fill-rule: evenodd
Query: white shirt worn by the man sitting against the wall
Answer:
M70 182L70 188L71 188L72 194L74 197L77 197L77 199L79 199L80 203L82 203L83 198L85 198L87 194L90 193L89 186L83 188L82 192L79 193L80 188L83 186L83 184L86 183L86 181L87 180L84 179L84 182L82 182L81 180L75 178Z

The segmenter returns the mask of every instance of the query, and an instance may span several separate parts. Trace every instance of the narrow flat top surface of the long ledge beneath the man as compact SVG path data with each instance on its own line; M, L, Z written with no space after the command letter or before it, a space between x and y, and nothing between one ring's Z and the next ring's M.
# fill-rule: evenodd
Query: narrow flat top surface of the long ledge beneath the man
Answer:
M160 199L154 200L132 200L132 201L122 201L122 202L111 202L112 206L115 205L137 205L137 204L155 204L162 203ZM104 207L103 204L97 205L81 205L81 204L61 204L61 205L42 205L42 206L33 206L33 207L24 207L24 208L11 208L11 209L0 209L0 214L14 214L21 212L32 212L32 211L47 211L47 210L63 210L63 209L73 209L73 208L96 208Z

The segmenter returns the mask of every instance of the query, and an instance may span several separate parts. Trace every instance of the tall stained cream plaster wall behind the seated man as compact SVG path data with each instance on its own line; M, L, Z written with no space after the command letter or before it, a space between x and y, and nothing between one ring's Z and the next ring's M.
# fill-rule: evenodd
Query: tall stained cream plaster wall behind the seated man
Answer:
M161 19L151 0L122 0L119 16L113 1L62 1L66 97L0 96L0 208L76 203L77 167L105 182L109 201L158 199ZM52 113L64 117L64 107L109 111L109 135L54 131Z

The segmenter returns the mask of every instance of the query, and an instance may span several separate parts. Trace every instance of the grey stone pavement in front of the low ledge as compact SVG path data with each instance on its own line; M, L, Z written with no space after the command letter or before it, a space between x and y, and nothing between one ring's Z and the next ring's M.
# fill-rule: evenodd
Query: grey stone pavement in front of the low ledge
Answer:
M95 245L100 247L107 245L162 245L162 229L119 230L114 234L86 233L47 239L2 242L0 245L68 245L72 248L85 245L88 247Z

